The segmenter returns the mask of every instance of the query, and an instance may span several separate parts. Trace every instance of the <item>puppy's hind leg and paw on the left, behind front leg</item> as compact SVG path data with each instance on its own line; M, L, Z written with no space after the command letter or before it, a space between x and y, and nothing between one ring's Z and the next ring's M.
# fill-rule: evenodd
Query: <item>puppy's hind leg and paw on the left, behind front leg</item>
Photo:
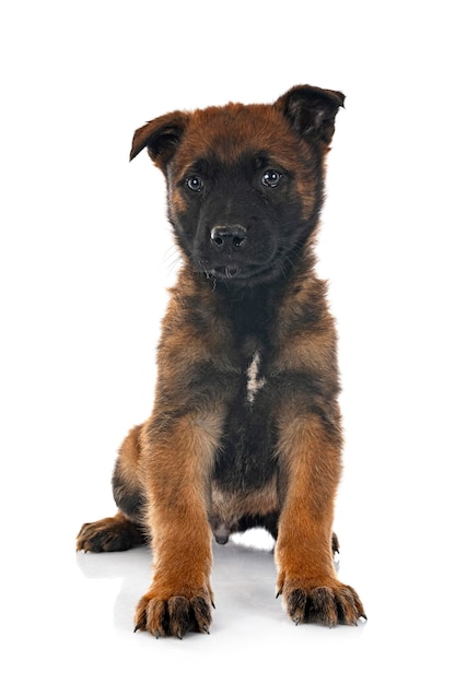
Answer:
M130 431L115 464L113 488L118 512L84 523L77 539L78 551L127 551L144 543L144 495L139 480L141 428L138 425Z

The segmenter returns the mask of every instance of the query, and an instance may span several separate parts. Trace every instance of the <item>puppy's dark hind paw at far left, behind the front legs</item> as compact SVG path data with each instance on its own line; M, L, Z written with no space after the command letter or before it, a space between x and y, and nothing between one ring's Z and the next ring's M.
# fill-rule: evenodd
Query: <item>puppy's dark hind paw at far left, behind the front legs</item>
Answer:
M116 516L85 522L77 536L77 551L127 551L143 541L135 523Z

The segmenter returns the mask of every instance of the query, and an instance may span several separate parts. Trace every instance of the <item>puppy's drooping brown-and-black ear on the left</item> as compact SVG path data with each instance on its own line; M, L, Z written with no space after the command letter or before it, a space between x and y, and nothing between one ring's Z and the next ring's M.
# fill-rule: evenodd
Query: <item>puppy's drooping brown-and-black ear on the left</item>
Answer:
M164 116L148 121L135 131L130 152L130 162L144 148L155 166L165 170L168 162L184 134L188 123L189 114L186 111L172 111Z

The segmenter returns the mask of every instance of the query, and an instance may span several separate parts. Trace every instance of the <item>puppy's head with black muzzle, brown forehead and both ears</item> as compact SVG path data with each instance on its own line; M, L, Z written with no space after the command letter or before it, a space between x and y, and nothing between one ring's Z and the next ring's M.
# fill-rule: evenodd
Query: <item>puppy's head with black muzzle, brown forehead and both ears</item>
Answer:
M323 204L324 157L343 95L295 86L272 105L173 111L133 138L166 177L168 219L194 268L252 285L285 273Z

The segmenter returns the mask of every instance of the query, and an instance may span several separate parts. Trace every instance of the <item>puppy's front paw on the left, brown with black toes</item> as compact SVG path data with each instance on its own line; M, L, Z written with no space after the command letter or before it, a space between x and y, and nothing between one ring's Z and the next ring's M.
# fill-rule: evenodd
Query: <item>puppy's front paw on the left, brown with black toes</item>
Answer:
M156 589L150 590L137 605L135 632L148 630L155 638L176 636L187 632L209 634L212 594L210 590L184 590L180 595L164 598Z

